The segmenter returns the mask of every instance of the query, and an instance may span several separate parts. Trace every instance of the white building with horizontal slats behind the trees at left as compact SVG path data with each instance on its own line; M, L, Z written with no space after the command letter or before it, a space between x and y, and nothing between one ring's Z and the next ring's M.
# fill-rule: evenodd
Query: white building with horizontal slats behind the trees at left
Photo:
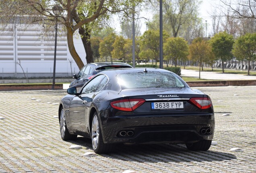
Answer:
M41 36L39 24L25 26L14 24L6 30L0 26L0 78L2 77L51 77L54 64L54 34ZM58 33L59 34L59 33ZM86 64L85 49L80 36L74 38L76 51ZM71 77L79 71L68 50L66 35L58 36L56 51L56 77ZM18 64L20 63L21 66Z

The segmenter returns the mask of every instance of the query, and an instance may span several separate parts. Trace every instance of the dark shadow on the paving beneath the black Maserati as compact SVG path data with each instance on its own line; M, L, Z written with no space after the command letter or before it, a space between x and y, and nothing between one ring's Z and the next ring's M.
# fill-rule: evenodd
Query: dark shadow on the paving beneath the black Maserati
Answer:
M91 139L78 137L76 141L69 141L75 145L91 147ZM227 161L237 159L230 153L212 151L189 151L185 144L147 144L147 145L123 145L117 144L114 151L108 154L100 154L102 157L120 159L123 161L138 161L141 163L155 162L205 162L205 161Z

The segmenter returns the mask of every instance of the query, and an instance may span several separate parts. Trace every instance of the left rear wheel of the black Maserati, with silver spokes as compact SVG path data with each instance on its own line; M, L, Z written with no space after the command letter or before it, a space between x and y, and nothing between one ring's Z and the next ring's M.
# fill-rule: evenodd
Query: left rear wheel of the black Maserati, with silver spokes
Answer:
M91 122L91 142L93 151L97 154L110 153L113 150L113 144L103 143L97 112L93 114L93 120Z

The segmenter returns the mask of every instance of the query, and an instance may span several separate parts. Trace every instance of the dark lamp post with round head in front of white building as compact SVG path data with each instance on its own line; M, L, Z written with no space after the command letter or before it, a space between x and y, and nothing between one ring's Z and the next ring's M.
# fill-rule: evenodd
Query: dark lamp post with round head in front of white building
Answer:
M53 13L56 17L56 24L55 24L55 44L54 44L54 71L52 77L52 90L54 90L55 86L55 71L56 71L56 50L57 50L57 30L58 30L58 16L62 11L62 7L58 5L54 5L52 8Z

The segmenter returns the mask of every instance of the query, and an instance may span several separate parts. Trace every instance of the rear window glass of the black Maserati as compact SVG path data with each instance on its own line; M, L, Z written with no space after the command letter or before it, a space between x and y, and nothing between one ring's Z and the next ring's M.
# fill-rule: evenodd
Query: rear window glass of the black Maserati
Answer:
M184 87L183 82L171 72L129 72L117 75L122 89Z

